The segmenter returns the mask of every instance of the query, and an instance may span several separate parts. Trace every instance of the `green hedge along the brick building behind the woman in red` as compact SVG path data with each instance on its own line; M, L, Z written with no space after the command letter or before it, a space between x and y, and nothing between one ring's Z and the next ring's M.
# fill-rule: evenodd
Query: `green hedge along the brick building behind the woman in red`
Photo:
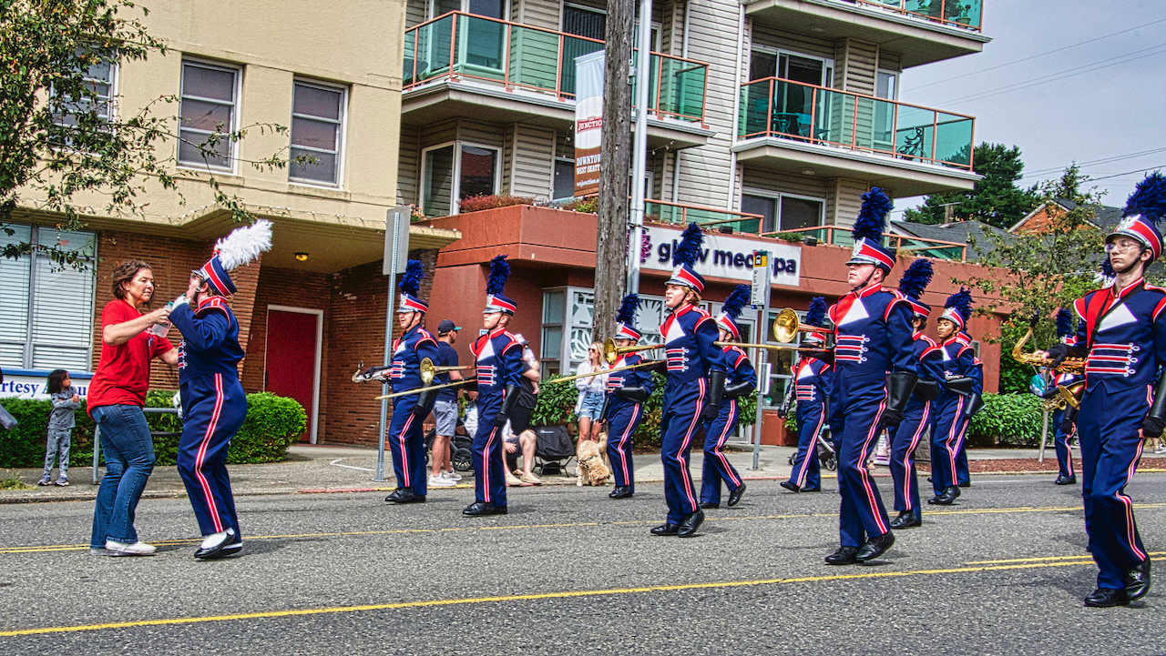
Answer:
M152 389L146 395L147 408L170 408L174 392ZM41 467L44 465L44 443L50 401L6 398L5 409L20 422L12 431L0 430L0 467ZM72 431L69 451L70 466L93 464L93 419L85 410L85 402L75 414L77 426ZM152 431L182 432L182 421L175 415L146 415ZM260 393L247 395L247 417L231 440L227 463L274 463L282 460L288 446L294 444L308 424L303 407L292 398ZM174 465L178 453L178 435L155 436L154 454L159 465Z

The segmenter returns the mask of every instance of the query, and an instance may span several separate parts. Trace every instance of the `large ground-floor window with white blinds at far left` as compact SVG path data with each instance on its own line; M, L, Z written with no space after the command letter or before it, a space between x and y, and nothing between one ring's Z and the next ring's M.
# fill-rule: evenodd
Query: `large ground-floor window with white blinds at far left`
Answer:
M0 258L0 367L87 372L93 337L97 235L8 224L3 244L56 245L79 252L85 268L58 268L34 248Z

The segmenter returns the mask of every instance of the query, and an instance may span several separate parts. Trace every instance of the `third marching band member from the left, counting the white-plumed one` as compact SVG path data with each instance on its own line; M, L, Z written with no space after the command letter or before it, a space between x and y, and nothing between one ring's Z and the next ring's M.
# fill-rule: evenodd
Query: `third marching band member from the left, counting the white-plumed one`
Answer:
M503 426L521 392L522 345L506 331L518 304L503 296L510 264L506 255L490 261L486 309L482 325L486 333L470 345L478 367L478 430L473 433L475 502L464 515L505 515L506 479L503 475Z

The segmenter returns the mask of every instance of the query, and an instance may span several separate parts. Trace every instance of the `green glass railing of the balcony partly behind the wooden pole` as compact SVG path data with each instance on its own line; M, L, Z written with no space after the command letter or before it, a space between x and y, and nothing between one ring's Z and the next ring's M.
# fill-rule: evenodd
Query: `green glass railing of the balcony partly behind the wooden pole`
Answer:
M598 50L595 38L450 12L405 31L403 89L477 79L574 99L575 57ZM651 61L648 110L703 122L709 65L659 52Z

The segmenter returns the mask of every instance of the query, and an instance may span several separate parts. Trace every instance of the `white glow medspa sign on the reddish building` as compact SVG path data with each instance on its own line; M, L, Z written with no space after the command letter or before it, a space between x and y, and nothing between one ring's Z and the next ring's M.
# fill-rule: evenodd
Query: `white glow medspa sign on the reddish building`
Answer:
M640 268L672 270L672 252L680 242L680 231L644 226L646 248L640 249ZM704 277L723 277L751 282L753 280L753 251L770 252L772 284L798 287L801 280L801 246L761 244L718 233L705 233L696 273Z

